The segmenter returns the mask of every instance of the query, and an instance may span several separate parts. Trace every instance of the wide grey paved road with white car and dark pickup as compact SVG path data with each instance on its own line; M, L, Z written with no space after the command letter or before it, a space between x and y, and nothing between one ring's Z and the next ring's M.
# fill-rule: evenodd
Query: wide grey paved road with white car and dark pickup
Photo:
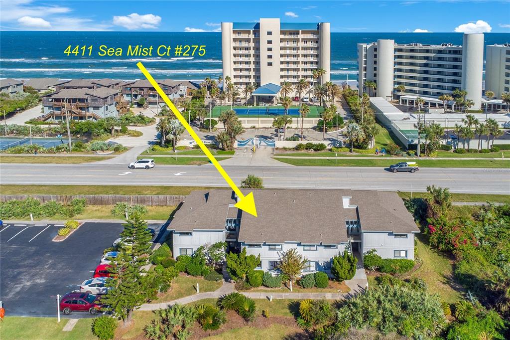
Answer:
M415 174L393 174L378 167L224 168L236 183L253 174L262 177L266 187L425 191L435 184L452 192L510 194L510 169L422 168ZM114 164L0 164L0 183L226 186L210 164L158 165L149 170Z

